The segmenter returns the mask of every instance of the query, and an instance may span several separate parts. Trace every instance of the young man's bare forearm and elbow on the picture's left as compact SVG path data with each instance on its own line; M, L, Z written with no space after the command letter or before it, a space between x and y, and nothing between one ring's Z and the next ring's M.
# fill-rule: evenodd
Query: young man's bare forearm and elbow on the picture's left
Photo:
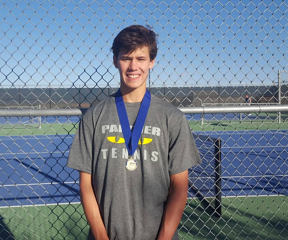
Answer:
M109 240L96 196L92 185L92 175L89 173L79 172L80 174L80 199L84 209L88 224L95 240Z

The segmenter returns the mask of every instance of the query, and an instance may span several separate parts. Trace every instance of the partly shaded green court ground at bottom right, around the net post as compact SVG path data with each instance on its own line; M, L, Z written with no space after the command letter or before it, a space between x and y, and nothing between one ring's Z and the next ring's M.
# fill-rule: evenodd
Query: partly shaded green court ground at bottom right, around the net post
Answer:
M179 239L286 239L286 200L286 196L225 198L221 218L203 211L196 201L191 202L186 204L178 227L182 236Z

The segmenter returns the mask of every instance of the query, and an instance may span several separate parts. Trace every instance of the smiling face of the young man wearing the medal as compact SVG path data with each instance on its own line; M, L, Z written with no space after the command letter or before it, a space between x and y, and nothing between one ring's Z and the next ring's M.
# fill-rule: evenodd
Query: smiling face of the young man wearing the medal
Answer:
M121 51L116 59L113 56L114 65L119 69L120 85L125 91L145 89L149 69L154 66L154 59L150 60L149 48L143 47L125 54Z

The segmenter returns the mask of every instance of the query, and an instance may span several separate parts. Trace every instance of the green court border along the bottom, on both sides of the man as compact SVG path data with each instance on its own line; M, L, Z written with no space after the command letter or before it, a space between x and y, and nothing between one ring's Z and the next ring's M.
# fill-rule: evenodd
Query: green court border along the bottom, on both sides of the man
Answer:
M285 239L287 201L287 196L223 198L219 219L189 199L179 239ZM86 239L89 230L81 204L0 208L0 214L4 239Z

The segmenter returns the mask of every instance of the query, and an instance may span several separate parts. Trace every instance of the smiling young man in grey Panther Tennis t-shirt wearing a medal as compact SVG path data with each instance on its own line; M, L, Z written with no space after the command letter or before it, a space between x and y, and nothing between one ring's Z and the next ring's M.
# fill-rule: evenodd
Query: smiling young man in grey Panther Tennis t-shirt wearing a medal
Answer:
M157 54L152 30L123 29L112 51L120 89L85 112L67 163L80 171L88 239L179 239L188 168L201 162L191 129L146 90Z

